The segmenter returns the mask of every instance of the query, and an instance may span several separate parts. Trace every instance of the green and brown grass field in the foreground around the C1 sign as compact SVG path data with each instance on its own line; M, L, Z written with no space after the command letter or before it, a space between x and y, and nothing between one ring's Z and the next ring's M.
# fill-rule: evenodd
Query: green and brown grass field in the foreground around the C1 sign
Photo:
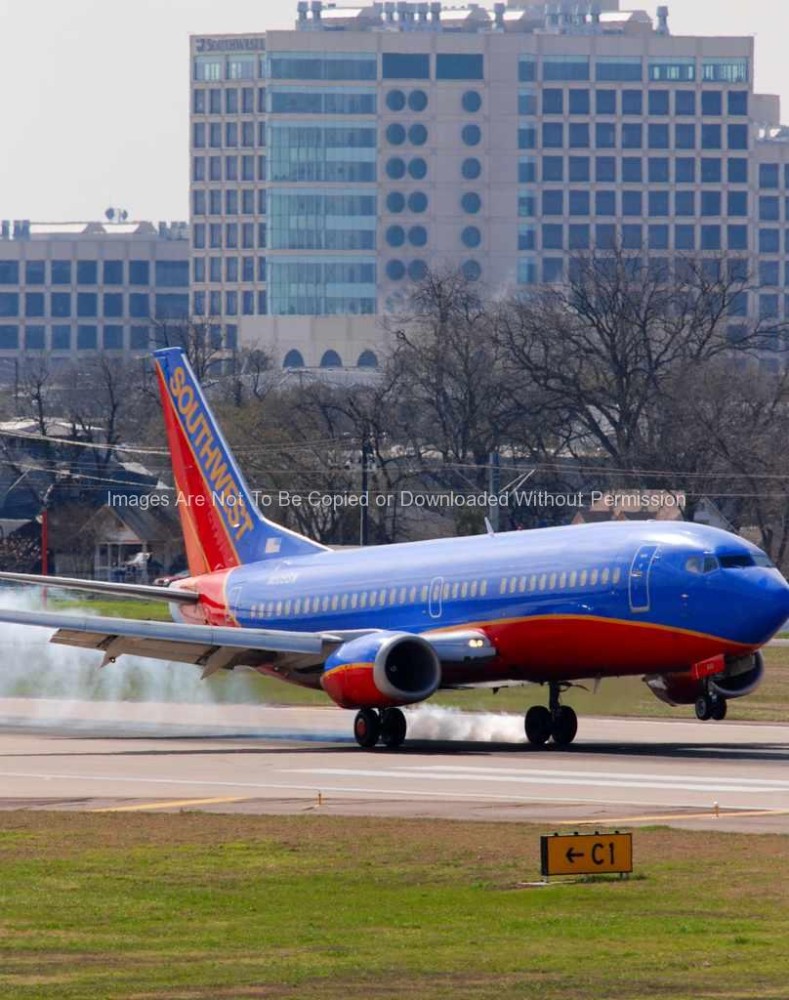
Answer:
M789 838L638 831L629 882L519 888L540 832L4 813L0 996L787 996Z

